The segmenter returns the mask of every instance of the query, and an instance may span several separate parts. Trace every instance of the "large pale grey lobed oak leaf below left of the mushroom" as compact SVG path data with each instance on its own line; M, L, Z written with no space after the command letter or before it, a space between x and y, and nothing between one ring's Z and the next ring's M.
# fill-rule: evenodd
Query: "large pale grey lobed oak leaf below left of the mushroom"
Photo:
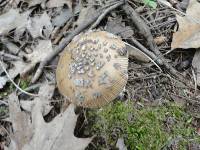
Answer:
M77 115L74 113L74 106L69 105L65 112L56 116L51 122L46 123L43 118L44 85L40 89L39 97L35 99L30 119L27 119L25 112L22 112L18 98L13 94L9 99L10 116L14 128L14 137L11 139L9 150L83 150L91 142L91 138L77 138L74 136ZM50 94L51 95L51 94ZM45 97L44 97L45 96ZM28 131L26 129L29 129ZM17 135L17 136L16 136Z

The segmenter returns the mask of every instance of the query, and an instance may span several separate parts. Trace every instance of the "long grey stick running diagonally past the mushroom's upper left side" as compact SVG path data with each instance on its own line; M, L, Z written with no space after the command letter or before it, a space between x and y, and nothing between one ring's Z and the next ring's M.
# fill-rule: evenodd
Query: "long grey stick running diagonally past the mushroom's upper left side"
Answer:
M101 15L103 10L97 10L94 15L91 16L91 18L88 18L82 25L77 27L74 31L71 32L66 38L63 39L63 41L55 48L55 50L42 61L40 62L40 65L32 79L32 83L35 83L40 75L42 74L44 66L53 59L57 54L59 54L68 44L69 42L80 32L82 32L85 28L87 28L90 24L92 24L95 20L98 19L98 17Z

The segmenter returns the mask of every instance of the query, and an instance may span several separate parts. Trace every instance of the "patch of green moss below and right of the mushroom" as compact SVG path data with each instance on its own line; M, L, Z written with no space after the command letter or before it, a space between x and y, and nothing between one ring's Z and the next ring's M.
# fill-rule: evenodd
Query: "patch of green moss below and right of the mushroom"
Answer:
M186 149L190 140L200 142L192 127L193 118L173 103L136 109L131 102L116 102L90 112L89 117L95 117L93 132L104 137L110 147L119 137L132 150L159 150L176 138L180 149Z

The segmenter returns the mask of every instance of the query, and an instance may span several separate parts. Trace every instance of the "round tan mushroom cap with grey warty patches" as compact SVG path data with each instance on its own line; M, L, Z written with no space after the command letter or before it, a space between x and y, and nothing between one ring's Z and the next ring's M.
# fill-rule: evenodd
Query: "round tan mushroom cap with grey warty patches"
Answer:
M83 107L100 107L126 85L128 56L121 39L105 31L76 36L64 49L56 70L61 94Z

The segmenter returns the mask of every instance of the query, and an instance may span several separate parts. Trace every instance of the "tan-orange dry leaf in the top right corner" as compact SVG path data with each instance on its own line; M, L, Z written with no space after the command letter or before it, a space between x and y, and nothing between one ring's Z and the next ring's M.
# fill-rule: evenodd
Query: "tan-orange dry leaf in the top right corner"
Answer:
M174 33L172 48L200 47L200 3L190 0L186 16L177 15L179 30Z

